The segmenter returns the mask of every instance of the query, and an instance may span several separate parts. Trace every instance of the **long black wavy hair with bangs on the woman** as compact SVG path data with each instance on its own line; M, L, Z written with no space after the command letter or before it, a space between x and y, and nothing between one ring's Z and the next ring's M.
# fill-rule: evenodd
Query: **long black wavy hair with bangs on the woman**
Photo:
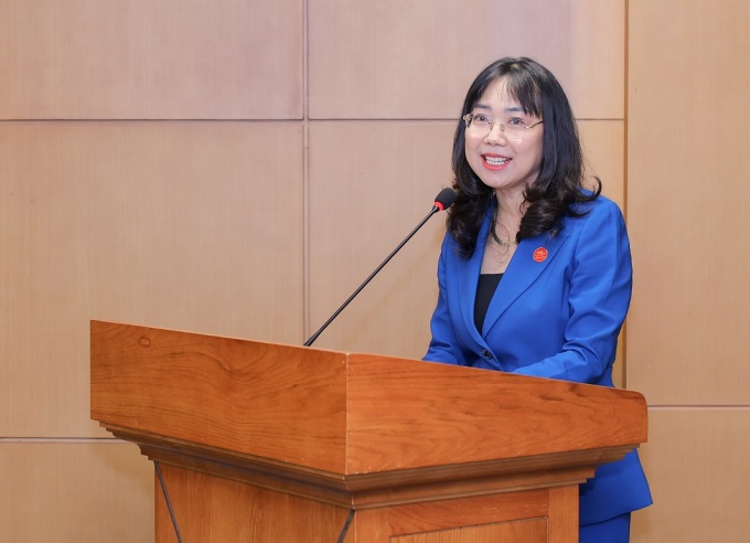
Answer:
M585 210L574 209L574 205L598 198L601 181L593 178L594 187L583 187L583 157L568 98L551 72L532 58L504 57L485 67L469 87L460 117L471 113L486 88L500 77L506 77L507 93L526 115L544 119L539 175L525 190L527 209L516 239L519 242L544 233L555 236L565 215L586 214ZM495 193L479 179L467 161L464 130L465 124L459 118L451 160L457 198L448 213L447 228L458 242L461 255L470 257Z

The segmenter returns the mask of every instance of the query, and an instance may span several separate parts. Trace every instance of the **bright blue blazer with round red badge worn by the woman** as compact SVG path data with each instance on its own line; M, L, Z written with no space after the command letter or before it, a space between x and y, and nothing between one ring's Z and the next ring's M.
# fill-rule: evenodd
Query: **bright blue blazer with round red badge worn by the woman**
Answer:
M446 235L439 296L425 360L612 386L618 334L632 290L630 243L620 209L599 196L565 217L555 237L523 239L476 330L474 300L492 209L470 258ZM602 466L581 486L580 523L651 504L638 454Z

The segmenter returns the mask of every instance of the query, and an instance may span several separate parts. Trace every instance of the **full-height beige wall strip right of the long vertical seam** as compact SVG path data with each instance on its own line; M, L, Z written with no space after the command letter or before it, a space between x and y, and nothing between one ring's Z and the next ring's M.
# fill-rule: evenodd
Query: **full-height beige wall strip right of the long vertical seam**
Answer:
M630 0L628 385L656 505L638 541L750 529L750 2Z

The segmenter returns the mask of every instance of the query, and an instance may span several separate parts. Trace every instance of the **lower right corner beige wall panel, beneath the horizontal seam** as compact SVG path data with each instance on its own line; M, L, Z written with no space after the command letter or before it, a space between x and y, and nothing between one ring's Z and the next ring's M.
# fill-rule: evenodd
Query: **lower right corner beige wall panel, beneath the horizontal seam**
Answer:
M632 541L744 541L750 409L652 407L649 423L654 505L633 515Z

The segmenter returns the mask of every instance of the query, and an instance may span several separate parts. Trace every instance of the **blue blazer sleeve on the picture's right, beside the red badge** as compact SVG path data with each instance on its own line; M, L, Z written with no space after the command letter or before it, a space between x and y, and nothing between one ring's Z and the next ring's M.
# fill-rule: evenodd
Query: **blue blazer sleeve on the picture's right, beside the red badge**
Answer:
M514 373L601 383L611 372L630 306L632 264L622 213L614 203L604 202L583 217L572 252L569 313L560 351Z

